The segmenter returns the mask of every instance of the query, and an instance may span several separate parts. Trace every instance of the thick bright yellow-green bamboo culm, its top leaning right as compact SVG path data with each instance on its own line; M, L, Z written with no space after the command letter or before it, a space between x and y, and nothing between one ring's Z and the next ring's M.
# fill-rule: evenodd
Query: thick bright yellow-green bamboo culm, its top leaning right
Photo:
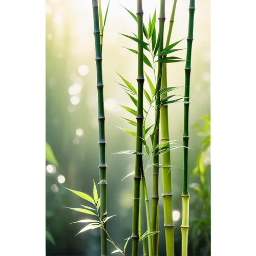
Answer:
M173 31L174 15L176 10L177 0L174 0L172 14L170 15L169 29L165 47L169 45L170 36ZM164 55L163 57L166 57ZM161 90L167 88L167 68L166 63L163 63ZM161 95L161 99L167 97L167 94ZM161 124L161 142L168 142L169 127L168 127L168 105L161 106L160 111ZM169 147L169 145L166 145ZM172 193L172 176L170 169L170 151L163 153L162 163L166 167L162 168L163 180L163 211L164 211L164 231L166 243L166 256L174 256L174 222L173 222L173 193Z

